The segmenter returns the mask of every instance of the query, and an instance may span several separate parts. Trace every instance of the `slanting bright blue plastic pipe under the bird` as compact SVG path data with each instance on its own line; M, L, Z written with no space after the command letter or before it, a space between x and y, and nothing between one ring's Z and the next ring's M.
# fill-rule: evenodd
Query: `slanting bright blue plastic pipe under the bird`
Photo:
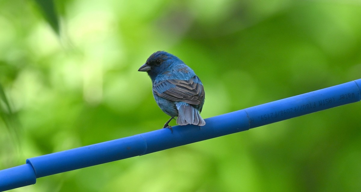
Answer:
M35 184L36 178L145 155L172 147L360 101L361 79L206 119L206 125L174 126L135 136L32 157L0 171L0 191Z

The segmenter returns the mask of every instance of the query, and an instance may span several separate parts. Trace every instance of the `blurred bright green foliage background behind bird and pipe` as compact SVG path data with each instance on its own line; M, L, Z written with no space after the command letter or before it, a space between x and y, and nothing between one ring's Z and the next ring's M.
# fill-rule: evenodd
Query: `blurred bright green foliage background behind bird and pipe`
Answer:
M0 169L161 128L137 71L158 50L201 78L204 118L361 78L359 0L51 3L0 1ZM12 191L361 191L360 114L349 104Z

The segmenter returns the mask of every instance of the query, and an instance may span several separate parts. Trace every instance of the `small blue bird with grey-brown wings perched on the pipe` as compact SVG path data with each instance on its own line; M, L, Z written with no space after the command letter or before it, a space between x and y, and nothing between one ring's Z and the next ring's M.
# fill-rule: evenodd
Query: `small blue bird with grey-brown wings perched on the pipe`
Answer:
M162 111L171 116L163 128L173 132L169 122L176 116L178 125L205 125L200 116L204 88L194 71L177 56L157 51L138 69L147 72L153 83L153 96Z

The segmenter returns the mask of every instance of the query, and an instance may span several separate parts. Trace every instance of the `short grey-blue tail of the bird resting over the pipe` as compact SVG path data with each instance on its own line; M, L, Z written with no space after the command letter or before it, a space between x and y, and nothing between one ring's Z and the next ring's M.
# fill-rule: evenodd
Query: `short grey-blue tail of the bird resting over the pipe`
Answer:
M194 108L192 105L189 105L184 102L179 102L176 104L178 109L178 118L177 124L178 125L205 125L204 120L202 119L199 111Z

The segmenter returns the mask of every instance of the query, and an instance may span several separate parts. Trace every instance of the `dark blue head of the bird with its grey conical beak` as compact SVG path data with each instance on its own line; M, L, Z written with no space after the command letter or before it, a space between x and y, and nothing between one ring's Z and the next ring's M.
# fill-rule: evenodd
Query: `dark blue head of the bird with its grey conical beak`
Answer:
M173 63L172 60L178 58L165 51L157 51L147 59L147 62L138 69L138 71L147 72L151 79L155 79L158 74L164 73Z

